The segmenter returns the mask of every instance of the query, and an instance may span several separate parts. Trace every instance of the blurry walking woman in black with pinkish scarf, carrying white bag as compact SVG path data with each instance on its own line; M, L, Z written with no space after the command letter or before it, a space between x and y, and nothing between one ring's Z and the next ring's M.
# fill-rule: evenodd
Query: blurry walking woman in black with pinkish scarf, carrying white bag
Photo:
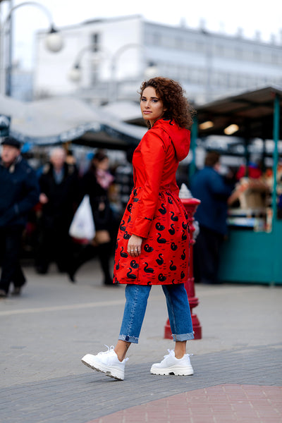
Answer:
M113 227L113 212L109 202L108 191L114 182L114 176L109 172L109 157L99 150L93 157L90 168L82 177L80 195L89 195L94 218L96 235L92 243L82 247L78 257L73 259L69 276L75 282L75 274L85 262L99 257L104 275L104 285L113 286L113 276L110 274L111 259L111 229Z

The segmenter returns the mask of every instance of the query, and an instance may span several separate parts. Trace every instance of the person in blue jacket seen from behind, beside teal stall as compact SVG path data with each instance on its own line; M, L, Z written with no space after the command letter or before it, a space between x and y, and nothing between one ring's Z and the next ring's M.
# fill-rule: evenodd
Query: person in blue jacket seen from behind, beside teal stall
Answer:
M194 246L195 282L218 283L219 251L227 233L227 200L233 190L219 167L220 154L208 152L204 168L195 173L190 187L193 197L201 200L195 213L200 226Z

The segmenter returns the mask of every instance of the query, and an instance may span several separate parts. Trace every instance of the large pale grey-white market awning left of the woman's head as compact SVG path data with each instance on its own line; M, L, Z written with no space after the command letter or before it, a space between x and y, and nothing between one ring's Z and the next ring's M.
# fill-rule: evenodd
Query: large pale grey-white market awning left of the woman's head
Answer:
M19 102L0 96L0 115L11 118L10 134L23 143L54 145L72 141L82 145L126 149L137 145L145 128L88 106L74 97Z

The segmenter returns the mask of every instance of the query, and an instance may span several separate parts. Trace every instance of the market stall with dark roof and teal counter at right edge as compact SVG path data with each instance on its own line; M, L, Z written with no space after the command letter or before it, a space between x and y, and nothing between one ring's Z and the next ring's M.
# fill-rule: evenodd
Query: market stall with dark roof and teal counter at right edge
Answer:
M282 90L266 87L197 108L192 151L197 137L204 140L228 133L236 135L244 147L245 169L229 204L221 281L282 284L281 102ZM254 177L250 151L256 140L263 143L262 167Z

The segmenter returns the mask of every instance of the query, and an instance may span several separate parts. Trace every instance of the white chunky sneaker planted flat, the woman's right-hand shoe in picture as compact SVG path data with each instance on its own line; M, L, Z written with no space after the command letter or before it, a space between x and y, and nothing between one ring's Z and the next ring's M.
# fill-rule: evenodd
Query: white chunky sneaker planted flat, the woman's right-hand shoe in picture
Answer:
M168 350L168 355L164 355L164 360L155 363L151 367L152 374L175 374L176 376L189 376L193 374L190 363L190 355L185 354L182 358L176 358L174 350Z

